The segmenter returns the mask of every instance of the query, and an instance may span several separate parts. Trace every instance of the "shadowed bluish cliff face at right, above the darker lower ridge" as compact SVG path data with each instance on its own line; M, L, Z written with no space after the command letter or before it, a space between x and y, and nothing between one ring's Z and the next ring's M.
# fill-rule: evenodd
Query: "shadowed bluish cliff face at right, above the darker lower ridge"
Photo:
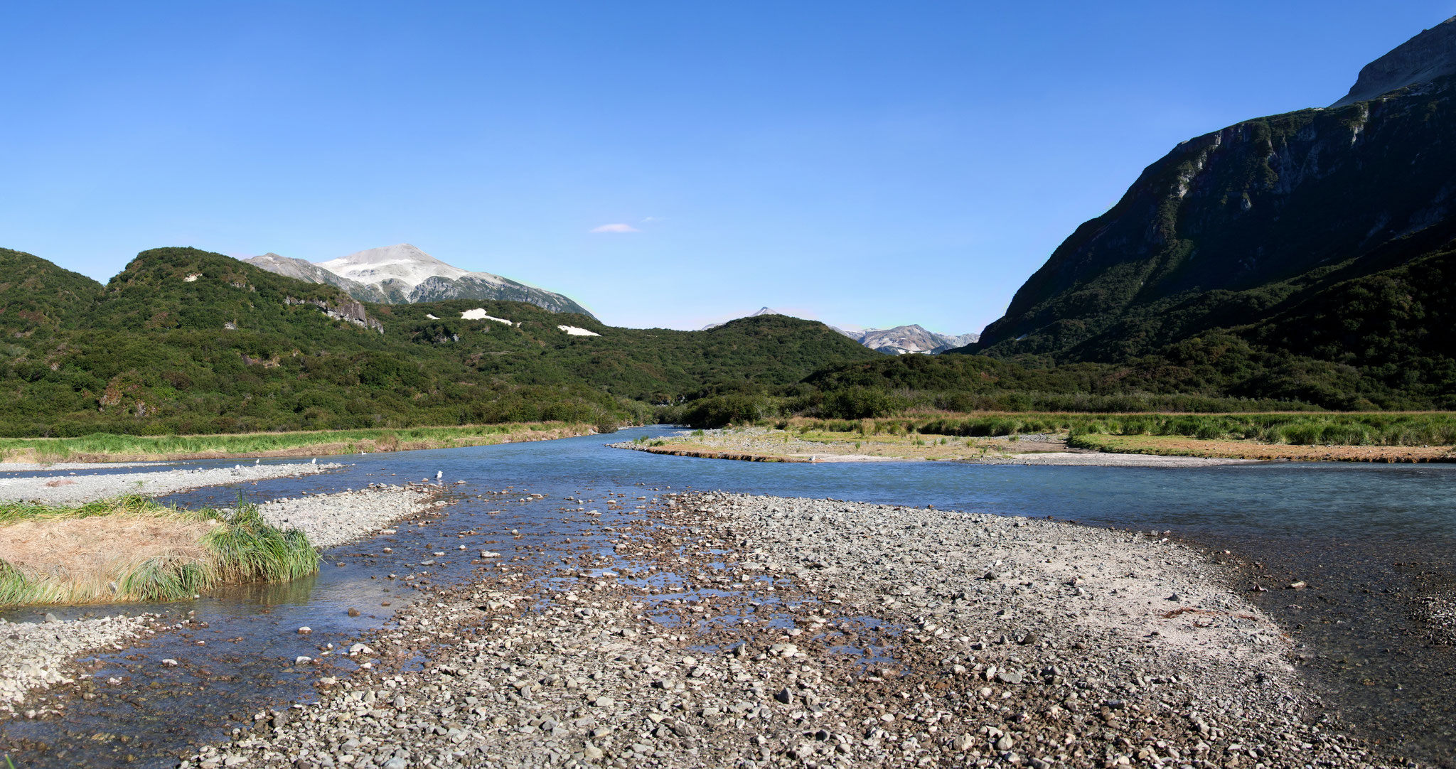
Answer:
M1182 143L1077 227L974 350L1121 360L1441 248L1456 234L1453 80Z

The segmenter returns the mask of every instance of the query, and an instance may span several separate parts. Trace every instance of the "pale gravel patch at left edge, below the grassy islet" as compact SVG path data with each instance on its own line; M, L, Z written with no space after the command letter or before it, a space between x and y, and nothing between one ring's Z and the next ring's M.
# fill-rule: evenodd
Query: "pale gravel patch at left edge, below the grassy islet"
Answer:
M54 619L54 618L52 618ZM153 615L74 619L70 622L6 622L0 619L0 718L36 718L25 711L26 693L76 682L76 658L121 651L137 638L156 635Z

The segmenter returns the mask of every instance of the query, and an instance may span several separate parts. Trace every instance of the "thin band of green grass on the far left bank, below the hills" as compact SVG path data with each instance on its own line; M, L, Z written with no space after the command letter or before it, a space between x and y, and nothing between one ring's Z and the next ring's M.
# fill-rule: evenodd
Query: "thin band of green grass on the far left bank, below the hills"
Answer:
M202 453L264 454L331 447L333 453L395 450L408 444L451 446L494 443L531 430L584 428L565 422L511 422L464 427L325 430L312 433L246 433L236 435L118 435L96 433L76 438L0 438L0 459L33 456L64 462L76 456L185 456Z

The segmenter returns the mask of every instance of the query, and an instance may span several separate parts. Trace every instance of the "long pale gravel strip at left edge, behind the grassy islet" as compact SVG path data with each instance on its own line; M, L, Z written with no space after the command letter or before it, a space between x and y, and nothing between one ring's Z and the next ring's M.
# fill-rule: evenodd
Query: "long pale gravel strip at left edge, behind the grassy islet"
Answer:
M74 505L105 500L108 497L121 497L124 494L162 497L202 486L265 481L269 478L297 478L325 470L335 470L339 468L344 468L344 465L313 465L300 462L290 465L237 465L233 468L198 468L135 473L67 475L60 478L0 478L0 500Z

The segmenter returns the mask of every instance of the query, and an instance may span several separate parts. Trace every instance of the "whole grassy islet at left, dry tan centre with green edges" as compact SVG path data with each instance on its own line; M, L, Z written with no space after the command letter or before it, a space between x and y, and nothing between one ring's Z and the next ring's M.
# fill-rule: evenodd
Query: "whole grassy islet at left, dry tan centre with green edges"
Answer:
M223 583L319 568L297 530L253 505L230 516L121 497L79 507L0 504L0 606L181 600Z

